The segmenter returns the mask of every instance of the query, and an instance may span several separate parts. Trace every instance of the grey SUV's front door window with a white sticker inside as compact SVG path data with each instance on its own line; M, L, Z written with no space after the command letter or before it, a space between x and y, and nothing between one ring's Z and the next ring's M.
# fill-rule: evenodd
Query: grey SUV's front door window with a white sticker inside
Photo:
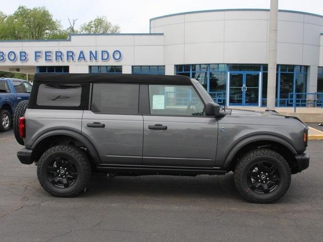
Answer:
M204 115L204 104L192 86L149 85L150 114Z

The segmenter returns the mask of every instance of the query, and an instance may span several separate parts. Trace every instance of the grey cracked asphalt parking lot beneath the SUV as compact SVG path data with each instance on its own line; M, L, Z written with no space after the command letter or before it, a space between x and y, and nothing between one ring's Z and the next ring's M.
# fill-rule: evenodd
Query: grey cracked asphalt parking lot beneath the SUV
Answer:
M0 133L0 241L323 241L323 141L275 204L251 204L233 174L92 176L89 191L55 198L36 166L21 164L13 132Z

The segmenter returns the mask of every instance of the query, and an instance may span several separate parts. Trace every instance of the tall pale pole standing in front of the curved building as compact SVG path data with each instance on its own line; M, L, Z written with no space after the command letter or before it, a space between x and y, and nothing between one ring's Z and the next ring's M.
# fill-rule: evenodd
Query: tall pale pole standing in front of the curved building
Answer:
M269 20L267 109L275 109L277 68L278 0L271 0Z

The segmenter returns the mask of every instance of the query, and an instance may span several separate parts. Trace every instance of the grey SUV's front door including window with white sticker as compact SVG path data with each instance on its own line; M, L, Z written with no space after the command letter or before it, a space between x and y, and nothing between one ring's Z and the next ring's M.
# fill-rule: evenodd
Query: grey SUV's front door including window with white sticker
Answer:
M150 114L144 115L143 164L212 167L218 123L204 115L193 86L149 85Z

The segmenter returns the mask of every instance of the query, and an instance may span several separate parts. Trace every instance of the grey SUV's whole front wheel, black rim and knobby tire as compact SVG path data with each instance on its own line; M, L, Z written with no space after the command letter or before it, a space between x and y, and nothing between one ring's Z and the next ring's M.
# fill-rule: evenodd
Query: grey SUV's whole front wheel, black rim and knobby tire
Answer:
M240 159L234 179L239 193L246 200L272 203L287 192L291 183L291 169L277 152L255 149Z

